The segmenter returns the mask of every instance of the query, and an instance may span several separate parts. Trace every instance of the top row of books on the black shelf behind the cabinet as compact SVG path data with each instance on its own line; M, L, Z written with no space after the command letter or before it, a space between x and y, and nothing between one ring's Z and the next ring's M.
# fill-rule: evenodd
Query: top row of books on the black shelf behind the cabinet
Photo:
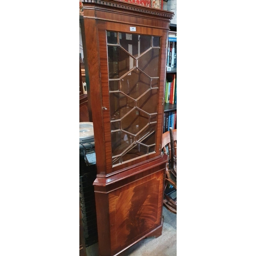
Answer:
M177 71L177 34L169 33L166 71Z

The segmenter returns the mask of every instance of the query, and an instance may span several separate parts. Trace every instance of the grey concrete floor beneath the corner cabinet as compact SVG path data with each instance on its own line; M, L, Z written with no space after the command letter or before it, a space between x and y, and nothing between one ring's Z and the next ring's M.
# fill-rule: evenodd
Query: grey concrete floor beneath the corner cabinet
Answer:
M163 207L163 230L158 238L146 238L121 252L118 256L176 256L177 215ZM87 248L88 256L98 256L98 244Z

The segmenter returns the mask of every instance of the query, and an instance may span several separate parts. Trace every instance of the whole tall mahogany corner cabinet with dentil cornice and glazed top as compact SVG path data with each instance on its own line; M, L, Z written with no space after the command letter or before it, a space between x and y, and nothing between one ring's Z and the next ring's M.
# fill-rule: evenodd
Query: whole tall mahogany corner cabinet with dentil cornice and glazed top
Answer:
M114 0L82 2L99 255L110 256L162 233L163 90L174 13Z

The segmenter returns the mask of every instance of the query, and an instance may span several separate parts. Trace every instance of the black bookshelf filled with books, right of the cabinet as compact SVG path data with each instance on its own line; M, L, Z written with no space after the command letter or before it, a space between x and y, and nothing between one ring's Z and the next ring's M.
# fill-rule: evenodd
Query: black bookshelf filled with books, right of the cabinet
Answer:
M164 88L163 133L169 127L177 129L177 25L170 24L166 55L166 80Z

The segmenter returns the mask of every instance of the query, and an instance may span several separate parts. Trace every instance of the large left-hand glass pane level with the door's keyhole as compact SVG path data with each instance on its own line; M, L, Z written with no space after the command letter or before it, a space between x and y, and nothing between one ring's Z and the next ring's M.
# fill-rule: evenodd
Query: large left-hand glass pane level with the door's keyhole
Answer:
M110 115L111 120L122 118L135 106L135 101L122 93L110 93Z

